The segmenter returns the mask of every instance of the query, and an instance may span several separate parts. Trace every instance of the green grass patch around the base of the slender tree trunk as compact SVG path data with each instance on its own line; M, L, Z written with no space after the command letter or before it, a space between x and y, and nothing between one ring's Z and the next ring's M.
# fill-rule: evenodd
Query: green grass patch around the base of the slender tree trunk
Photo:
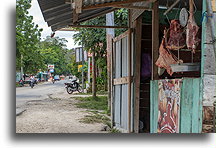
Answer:
M94 110L104 110L107 111L108 100L107 96L98 97L77 97L79 100L75 105L78 108L94 109Z

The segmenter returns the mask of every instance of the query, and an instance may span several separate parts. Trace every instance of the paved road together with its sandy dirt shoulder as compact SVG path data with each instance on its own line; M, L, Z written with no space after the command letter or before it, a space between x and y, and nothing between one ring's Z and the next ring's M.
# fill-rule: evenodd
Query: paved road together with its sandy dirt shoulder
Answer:
M67 80L16 88L16 133L107 133L103 123L80 122L91 115L64 88Z

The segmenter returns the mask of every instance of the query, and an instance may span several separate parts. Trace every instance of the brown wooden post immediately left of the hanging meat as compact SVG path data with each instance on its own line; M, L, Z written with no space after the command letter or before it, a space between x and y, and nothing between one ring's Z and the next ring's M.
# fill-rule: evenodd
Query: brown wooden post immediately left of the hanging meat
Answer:
M155 65L159 52L159 1L154 2L152 10L152 80L157 80L158 67Z

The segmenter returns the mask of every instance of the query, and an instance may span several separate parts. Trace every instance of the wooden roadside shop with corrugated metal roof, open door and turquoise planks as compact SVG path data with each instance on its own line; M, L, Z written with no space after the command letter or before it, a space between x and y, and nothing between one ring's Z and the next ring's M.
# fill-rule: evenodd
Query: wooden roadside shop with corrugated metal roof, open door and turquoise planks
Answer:
M163 32L170 27L169 21L179 18L182 8L189 10L189 2L193 1L38 2L45 21L53 31L73 27L128 28L128 31L112 40L113 127L126 133L202 132L204 108L213 106L216 100L214 0L194 0L194 17L199 27L197 38L200 42L195 53L187 47L171 51L178 60L177 64L169 65L172 75L155 64L161 54L159 47ZM126 27L80 25L83 21L119 8L129 9Z

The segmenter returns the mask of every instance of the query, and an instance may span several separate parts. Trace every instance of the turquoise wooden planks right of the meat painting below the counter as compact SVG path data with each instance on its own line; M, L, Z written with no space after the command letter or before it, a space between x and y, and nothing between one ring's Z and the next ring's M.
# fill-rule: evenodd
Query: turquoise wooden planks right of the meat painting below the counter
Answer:
M185 78L181 89L180 133L200 133L202 130L202 100L200 78Z

